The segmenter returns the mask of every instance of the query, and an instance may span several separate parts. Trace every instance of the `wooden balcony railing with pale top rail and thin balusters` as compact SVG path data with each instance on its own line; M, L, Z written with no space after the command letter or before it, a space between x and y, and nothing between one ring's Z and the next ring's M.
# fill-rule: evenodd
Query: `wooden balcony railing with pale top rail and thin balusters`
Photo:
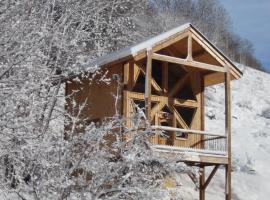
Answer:
M152 126L152 129L156 133L156 136L160 135L162 131L187 134L186 139L183 139L180 142L178 142L177 139L174 139L170 144L160 143L153 137L151 142L158 148L227 155L227 137L225 135L168 126ZM192 141L191 138L193 138Z

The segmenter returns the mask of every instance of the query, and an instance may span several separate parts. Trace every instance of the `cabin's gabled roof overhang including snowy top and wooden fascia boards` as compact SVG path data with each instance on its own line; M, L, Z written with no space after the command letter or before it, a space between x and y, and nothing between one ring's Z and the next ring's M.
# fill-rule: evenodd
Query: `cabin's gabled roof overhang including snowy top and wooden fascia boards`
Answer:
M223 67L229 67L232 80L241 78L242 72L237 68L237 66L190 23L186 23L158 36L152 37L137 45L121 49L119 51L102 56L94 61L90 61L84 64L84 69L87 72L92 68L111 66L113 64L124 62L130 59L138 61L147 56L147 50L151 49L152 52L157 52L177 41L180 41L181 39L187 37L189 34L192 34L192 37L196 40L196 42L203 45L208 53L210 53ZM210 73L209 76L222 75Z

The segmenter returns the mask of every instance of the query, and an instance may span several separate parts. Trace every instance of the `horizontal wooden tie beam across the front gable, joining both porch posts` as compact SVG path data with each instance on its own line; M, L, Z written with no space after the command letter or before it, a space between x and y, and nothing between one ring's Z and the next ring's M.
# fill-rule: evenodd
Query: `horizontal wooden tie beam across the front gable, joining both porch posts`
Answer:
M199 69L206 69L210 71L225 72L225 69L223 67L220 67L217 65L210 65L207 63L201 63L197 61L188 61L187 59L176 58L176 57L161 55L157 53L153 53L153 59L175 63L179 65L186 65L186 66L199 68Z

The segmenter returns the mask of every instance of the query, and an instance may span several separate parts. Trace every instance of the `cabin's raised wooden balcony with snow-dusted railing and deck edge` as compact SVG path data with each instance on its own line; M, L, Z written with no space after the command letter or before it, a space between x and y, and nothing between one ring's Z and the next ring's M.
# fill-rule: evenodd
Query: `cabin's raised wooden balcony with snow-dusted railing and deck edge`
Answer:
M152 130L156 134L150 141L159 152L180 153L187 161L227 163L225 135L169 126L152 126ZM185 137L177 138L177 135Z

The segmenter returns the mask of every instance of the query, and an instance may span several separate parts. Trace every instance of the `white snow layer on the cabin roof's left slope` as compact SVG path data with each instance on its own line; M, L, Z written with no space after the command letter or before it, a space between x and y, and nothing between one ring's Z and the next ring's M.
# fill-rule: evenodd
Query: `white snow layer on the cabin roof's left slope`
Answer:
M85 68L87 70L87 69L93 68L93 67L100 67L100 66L106 65L110 62L113 62L115 60L125 58L127 56L136 56L138 52L140 52L142 50L147 50L148 48L151 48L152 46L163 42L164 40L168 39L169 37L189 28L190 25L191 25L190 23L183 24L183 25L176 27L170 31L167 31L167 32L161 33L160 35L152 37L152 38L150 38L142 43L139 43L139 44L136 44L136 45L133 45L130 47L126 47L126 48L123 48L119 51L116 51L116 52L107 54L105 56L102 56L100 58L97 58L96 60L90 61L87 64L85 64L86 65Z

